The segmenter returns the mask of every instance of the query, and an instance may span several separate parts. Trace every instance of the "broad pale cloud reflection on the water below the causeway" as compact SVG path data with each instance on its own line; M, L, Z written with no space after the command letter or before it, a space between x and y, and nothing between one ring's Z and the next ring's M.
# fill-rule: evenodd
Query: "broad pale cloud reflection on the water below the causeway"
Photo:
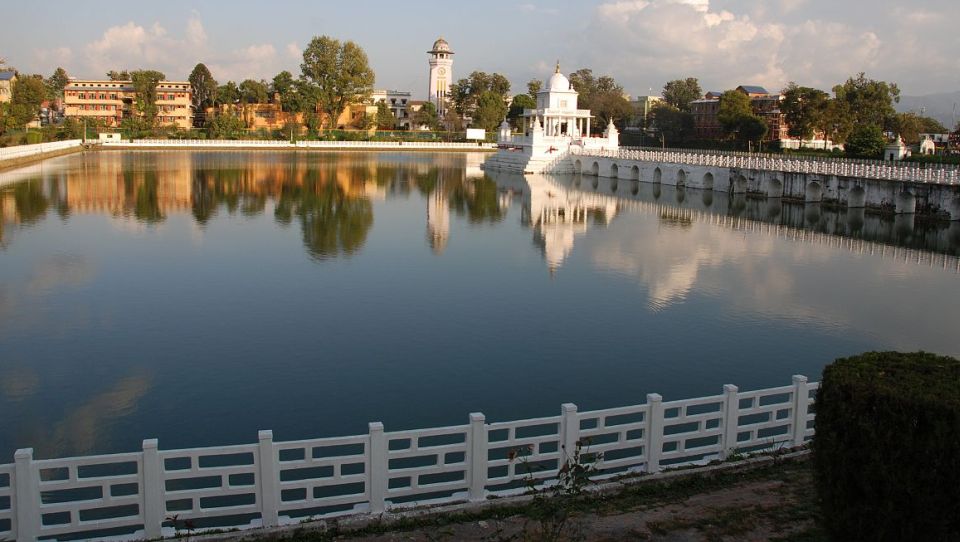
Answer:
M877 347L960 354L953 329L960 305L944 296L956 291L957 275L938 268L703 223L658 228L629 214L591 236L587 249L599 269L645 286L653 310L697 292L751 319L850 333Z

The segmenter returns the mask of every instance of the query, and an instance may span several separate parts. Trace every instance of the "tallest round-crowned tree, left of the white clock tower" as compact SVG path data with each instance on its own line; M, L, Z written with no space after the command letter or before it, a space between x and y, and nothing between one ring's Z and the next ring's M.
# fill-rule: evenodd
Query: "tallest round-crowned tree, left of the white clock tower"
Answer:
M300 69L331 125L336 125L347 105L365 100L373 90L375 76L367 53L352 41L313 38L303 51Z

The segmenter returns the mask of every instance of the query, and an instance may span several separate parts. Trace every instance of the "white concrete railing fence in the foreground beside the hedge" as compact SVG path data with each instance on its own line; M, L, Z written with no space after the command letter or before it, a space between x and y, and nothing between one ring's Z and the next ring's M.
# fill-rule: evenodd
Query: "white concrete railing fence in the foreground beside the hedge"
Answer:
M817 383L487 423L256 444L67 459L18 450L0 465L0 540L141 539L177 531L252 528L422 504L482 501L550 483L578 444L598 477L803 445L813 436ZM519 454L517 452L520 452ZM518 455L522 459L518 459ZM532 477L532 478L531 478Z

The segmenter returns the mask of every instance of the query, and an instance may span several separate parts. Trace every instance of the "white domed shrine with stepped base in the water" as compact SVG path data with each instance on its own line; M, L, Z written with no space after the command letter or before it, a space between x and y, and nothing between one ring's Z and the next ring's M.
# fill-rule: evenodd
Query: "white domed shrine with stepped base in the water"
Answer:
M500 125L497 153L484 164L484 169L518 173L573 173L572 149L609 150L620 147L620 133L607 125L603 137L591 137L588 109L577 109L577 91L570 80L556 72L545 90L537 93L537 108L525 109L520 119L520 133L513 133L506 120Z

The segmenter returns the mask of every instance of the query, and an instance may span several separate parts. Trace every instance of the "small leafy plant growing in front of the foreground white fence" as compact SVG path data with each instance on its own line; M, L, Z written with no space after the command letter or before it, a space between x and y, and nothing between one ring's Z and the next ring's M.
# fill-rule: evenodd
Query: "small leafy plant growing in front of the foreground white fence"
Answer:
M573 524L570 519L577 509L583 507L584 489L592 483L590 476L597 471L597 465L603 459L602 453L589 452L589 444L589 438L578 440L576 448L569 455L568 451L561 447L562 457L556 482L543 486L538 484L535 476L535 471L539 469L529 462L533 445L527 447L525 453L522 450L512 450L508 454L511 461L519 458L526 470L524 483L528 493L533 495L527 515L537 522L537 530L528 533L524 527L524 533L531 535L533 540L546 542L580 538L578 530L571 528Z

